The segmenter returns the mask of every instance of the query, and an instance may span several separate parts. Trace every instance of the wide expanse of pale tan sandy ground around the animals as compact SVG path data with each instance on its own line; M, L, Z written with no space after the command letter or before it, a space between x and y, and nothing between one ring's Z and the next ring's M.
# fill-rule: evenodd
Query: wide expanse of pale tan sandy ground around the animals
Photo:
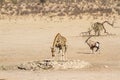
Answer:
M96 21L104 20L66 18L50 21L37 18L34 21L29 17L10 22L0 20L0 65L51 59L50 47L58 32L68 40L68 59L79 59L94 65L78 71L0 71L0 80L120 80L120 28L105 24L108 32L116 36L91 38L101 43L101 54L91 54L85 44L87 37L79 36ZM116 27L120 27L119 22L120 19L117 18Z

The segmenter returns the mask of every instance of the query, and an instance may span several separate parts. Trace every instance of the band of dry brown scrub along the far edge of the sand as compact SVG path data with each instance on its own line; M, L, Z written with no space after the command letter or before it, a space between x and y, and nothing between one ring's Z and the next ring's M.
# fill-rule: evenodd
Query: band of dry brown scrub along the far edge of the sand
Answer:
M8 2L14 4L4 5L5 10L10 10L9 14L40 14L50 16L75 16L82 18L81 16L88 13L95 18L103 16L101 14L114 13L120 15L120 3L119 0L0 0L0 3L8 4ZM45 4L47 2L47 4ZM78 3L77 3L78 2ZM79 3L80 2L80 3ZM55 3L55 4L54 4ZM112 3L112 4L111 4ZM18 4L18 5L16 5ZM23 6L20 6L24 4ZM54 4L51 5L51 4ZM41 6L43 5L43 6ZM115 5L112 7L112 5ZM2 7L3 5L0 5ZM94 6L94 7L93 7ZM111 7L110 7L111 6ZM20 8L20 9L19 9ZM114 10L112 9L114 8ZM8 14L8 11L2 9L2 14ZM113 12L114 11L114 12ZM81 16L80 16L81 15ZM106 17L107 17L106 15Z

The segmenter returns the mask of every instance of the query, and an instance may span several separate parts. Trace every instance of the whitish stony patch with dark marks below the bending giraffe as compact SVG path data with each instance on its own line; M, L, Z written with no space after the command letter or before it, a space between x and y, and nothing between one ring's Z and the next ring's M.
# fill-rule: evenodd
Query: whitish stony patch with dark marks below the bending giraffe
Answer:
M80 60L67 60L67 61L33 61L18 66L18 69L21 70L67 70L67 69L81 69L89 68L90 63Z

